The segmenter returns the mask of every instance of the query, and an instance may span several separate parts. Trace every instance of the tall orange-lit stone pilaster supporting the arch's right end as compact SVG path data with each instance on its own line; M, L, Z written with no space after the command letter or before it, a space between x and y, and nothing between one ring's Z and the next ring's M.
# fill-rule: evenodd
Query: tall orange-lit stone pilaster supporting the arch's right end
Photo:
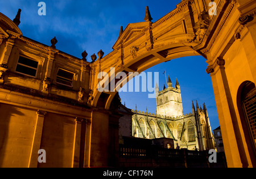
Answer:
M208 67L207 73L212 77L228 167L246 167L248 161L226 76L225 60L218 58L214 65Z

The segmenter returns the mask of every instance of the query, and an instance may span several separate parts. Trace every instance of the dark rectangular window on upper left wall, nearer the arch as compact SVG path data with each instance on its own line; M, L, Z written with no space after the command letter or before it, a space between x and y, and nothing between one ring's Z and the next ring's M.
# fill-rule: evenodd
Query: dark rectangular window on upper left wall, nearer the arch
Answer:
M63 84L64 86L73 87L74 75L75 74L70 71L59 69L57 72L56 82L59 84Z

